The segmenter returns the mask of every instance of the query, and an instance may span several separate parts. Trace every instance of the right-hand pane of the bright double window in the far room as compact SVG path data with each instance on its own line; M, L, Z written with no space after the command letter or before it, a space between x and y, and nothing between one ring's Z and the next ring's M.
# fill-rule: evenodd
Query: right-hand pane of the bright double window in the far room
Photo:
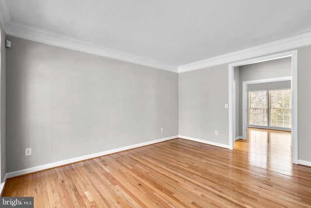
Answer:
M292 91L269 91L270 96L270 126L292 128L291 109Z

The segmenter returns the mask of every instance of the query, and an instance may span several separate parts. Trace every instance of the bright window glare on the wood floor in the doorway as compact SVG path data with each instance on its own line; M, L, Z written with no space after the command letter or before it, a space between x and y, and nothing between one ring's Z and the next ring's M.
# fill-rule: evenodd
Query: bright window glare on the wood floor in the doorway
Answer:
M291 144L291 132L248 128L247 140L237 140L235 149L248 151L252 165L272 169L278 166L288 171L292 168Z

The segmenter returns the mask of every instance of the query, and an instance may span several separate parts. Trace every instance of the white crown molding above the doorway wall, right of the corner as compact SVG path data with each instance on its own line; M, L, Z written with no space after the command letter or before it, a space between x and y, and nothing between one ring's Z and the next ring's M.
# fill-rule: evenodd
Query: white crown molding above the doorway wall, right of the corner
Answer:
M178 73L246 60L311 45L311 32L179 66Z

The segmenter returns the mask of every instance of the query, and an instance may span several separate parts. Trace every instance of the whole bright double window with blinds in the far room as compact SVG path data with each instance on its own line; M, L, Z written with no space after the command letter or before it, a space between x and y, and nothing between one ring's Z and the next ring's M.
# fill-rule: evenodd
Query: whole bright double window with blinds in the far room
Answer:
M291 128L292 91L262 90L248 93L248 125Z

